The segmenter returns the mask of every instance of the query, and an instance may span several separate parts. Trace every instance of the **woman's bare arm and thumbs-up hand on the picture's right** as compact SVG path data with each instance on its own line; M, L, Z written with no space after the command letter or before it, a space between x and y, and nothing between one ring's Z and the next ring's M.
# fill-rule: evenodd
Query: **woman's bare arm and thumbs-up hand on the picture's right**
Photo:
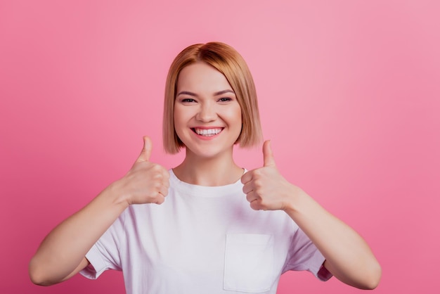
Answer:
M263 153L264 167L242 177L250 206L254 210L284 210L324 255L324 267L331 274L356 288L375 288L382 271L363 238L280 175L268 141Z

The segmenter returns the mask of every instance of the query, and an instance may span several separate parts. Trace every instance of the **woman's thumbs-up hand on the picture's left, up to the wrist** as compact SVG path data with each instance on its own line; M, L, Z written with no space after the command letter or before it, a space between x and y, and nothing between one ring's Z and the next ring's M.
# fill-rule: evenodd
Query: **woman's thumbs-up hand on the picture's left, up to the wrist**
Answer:
M168 194L169 172L162 165L150 162L153 143L148 136L143 137L143 148L129 172L117 181L119 193L124 195L129 205L164 202Z

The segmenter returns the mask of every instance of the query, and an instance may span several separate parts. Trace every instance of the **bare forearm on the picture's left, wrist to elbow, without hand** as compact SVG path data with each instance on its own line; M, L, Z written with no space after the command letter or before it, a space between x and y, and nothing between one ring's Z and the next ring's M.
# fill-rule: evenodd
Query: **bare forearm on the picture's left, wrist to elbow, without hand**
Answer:
M105 188L44 238L30 262L30 277L34 283L59 283L79 270L86 253L128 206L115 186L117 183Z

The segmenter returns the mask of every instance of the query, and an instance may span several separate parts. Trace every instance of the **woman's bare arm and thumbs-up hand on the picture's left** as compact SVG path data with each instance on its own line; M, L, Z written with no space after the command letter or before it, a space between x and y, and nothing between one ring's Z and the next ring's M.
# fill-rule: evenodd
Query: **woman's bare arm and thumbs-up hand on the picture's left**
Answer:
M44 238L30 261L33 283L48 286L74 276L89 264L86 253L129 205L164 201L169 173L149 162L152 144L148 137L144 140L141 155L122 179L110 184Z

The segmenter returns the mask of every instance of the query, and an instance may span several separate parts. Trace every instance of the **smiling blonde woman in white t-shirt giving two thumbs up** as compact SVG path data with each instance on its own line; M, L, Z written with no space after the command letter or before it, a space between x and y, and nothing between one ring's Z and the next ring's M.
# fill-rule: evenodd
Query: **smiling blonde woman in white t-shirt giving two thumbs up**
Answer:
M235 164L234 144L259 144L261 127L252 76L231 46L179 53L163 130L165 150L184 148L183 162L150 162L144 137L131 170L46 236L30 262L34 283L117 269L127 293L276 293L283 272L308 270L377 286L380 265L363 238L279 174L269 141L263 167Z

